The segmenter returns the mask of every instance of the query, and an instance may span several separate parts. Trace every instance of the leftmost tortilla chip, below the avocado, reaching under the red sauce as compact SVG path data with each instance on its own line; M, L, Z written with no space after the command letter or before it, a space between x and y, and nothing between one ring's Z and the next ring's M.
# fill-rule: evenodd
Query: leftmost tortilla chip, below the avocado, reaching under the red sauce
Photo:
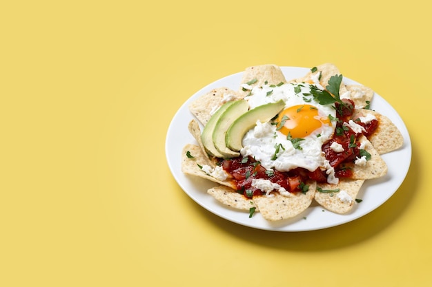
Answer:
M189 157L189 156L190 157ZM188 144L183 148L181 154L181 171L190 176L197 176L199 178L205 178L212 182L225 185L226 187L235 188L235 185L230 180L219 180L214 176L206 173L202 167L208 165L211 168L215 168L216 164L211 162L203 153L201 147L197 145Z

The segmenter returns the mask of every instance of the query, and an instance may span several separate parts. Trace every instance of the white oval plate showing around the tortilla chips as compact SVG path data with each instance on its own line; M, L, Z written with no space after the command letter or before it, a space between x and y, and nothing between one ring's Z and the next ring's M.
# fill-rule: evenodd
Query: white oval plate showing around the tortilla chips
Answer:
M291 78L304 76L309 69L304 67L281 67L281 70L286 79L289 80ZM188 105L199 96L209 92L210 89L229 87L230 89L237 90L242 79L242 74L243 72L240 72L221 78L200 89L186 100L186 103L181 105L180 109L175 114L166 135L166 158L175 180L181 189L183 189L190 198L195 200L195 202L204 207L204 209L231 222L253 228L271 231L311 231L337 226L362 217L386 202L400 187L411 163L411 140L408 130L399 114L397 114L395 109L393 109L386 100L375 93L371 103L371 109L375 109L395 123L400 129L402 136L404 136L404 145L397 151L382 155L382 158L384 158L388 165L388 173L383 178L377 180L366 180L361 191L357 195L357 198L363 201L359 204L355 204L350 213L338 215L331 211L324 211L322 206L313 202L312 206L301 215L284 222L272 223L264 220L259 213L255 213L253 217L249 218L247 212L237 211L219 204L212 196L206 193L207 189L215 186L213 182L201 178L185 176L184 173L181 172L181 150L187 143L196 143L195 138L193 138L188 131L188 123L193 119ZM358 84L349 78L344 78L344 83Z

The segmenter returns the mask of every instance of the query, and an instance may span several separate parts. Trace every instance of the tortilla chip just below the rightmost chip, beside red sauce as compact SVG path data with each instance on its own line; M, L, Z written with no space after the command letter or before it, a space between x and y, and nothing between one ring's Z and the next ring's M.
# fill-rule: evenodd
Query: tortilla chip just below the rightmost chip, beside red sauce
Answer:
M387 164L380 157L380 154L373 147L366 136L361 136L359 142L364 144L364 150L371 154L371 159L366 161L365 165L352 164L354 180L370 180L372 178L381 178L387 173Z

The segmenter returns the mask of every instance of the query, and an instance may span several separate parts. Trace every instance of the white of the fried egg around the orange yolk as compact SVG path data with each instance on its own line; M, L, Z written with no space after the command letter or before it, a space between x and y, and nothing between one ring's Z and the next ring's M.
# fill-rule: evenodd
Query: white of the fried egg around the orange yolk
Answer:
M248 100L251 109L278 100L284 100L285 109L295 105L313 105L317 108L320 118L330 115L334 119L336 116L334 106L321 105L310 94L311 85L308 83L286 83L279 87L270 85L254 87L245 99ZM333 136L335 125L335 120L332 120L331 125L323 124L300 142L301 149L295 149L291 140L278 131L276 125L258 121L255 127L244 136L243 149L240 153L242 156L252 156L266 169L290 171L303 167L315 171L318 167L324 167L326 159L322 152L322 145Z

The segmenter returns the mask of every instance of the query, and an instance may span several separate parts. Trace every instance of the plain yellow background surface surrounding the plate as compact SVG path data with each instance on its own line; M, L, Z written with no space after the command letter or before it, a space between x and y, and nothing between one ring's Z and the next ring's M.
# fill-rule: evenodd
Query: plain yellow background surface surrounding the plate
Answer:
M3 1L1 286L431 286L427 1ZM166 131L250 65L331 62L399 112L402 187L321 231L239 226L181 191Z

